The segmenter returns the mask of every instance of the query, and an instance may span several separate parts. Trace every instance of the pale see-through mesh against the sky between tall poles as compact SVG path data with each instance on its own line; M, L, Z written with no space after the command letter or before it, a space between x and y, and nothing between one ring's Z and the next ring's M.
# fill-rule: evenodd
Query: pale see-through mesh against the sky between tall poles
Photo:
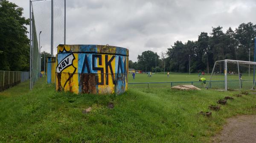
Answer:
M32 11L37 37L42 31L41 51L51 53L51 0L32 1ZM57 54L59 44L64 44L64 0L53 0L53 56Z

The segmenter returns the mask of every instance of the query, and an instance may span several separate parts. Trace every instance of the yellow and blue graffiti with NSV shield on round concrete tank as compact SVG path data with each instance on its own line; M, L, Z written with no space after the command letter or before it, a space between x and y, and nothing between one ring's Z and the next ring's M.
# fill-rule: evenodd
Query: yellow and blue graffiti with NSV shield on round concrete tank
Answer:
M127 89L128 54L126 51L119 51L116 47L107 47L108 49L104 51L102 49L105 47L97 46L58 46L56 90L119 94Z

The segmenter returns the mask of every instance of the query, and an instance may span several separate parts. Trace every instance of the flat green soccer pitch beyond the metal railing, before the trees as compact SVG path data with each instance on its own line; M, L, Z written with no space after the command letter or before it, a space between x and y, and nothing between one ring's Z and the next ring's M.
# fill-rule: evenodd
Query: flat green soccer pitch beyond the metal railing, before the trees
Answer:
M206 86L212 89L224 90L225 88L225 77L224 75L214 75L212 76L211 85L209 85L209 81L211 75L204 75L198 77L198 74L193 73L189 75L188 73L172 73L169 77L166 74L152 74L151 77L148 77L147 74L136 74L135 79L132 78L131 74L128 74L128 83L130 88L147 88L147 87L171 87L182 84L193 84L196 87L204 88L202 82L199 82L200 78L206 78ZM240 81L238 75L228 75L228 89L239 89ZM147 84L149 82L149 84ZM173 82L173 83L151 83L151 82ZM144 84L132 84L132 83L144 83ZM253 86L253 75L243 75L241 81L242 89L251 89Z

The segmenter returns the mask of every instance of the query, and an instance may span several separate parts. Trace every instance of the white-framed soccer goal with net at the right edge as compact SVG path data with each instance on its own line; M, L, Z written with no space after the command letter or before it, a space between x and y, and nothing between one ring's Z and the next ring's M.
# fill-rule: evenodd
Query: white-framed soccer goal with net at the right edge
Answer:
M208 87L218 90L254 89L256 62L221 60L216 61Z

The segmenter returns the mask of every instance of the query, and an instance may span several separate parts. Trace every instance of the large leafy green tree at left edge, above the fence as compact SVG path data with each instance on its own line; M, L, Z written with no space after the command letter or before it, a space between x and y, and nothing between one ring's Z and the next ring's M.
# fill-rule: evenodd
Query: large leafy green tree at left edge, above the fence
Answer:
M22 17L23 8L0 0L0 70L29 70L29 20Z

